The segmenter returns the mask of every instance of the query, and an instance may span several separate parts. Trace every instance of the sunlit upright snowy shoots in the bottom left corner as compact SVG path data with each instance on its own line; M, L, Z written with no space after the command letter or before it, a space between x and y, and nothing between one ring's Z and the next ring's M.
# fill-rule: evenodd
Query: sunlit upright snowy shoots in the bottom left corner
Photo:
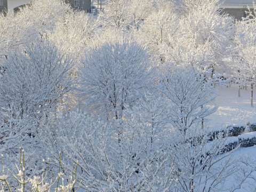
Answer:
M50 171L50 159L48 162L45 162L43 159L42 170L38 175L31 175L29 172L29 167L25 165L25 155L24 150L20 148L19 150L19 164L16 165L18 173L15 174L14 170L6 171L3 161L3 154L1 155L3 170L0 175L0 183L1 183L1 191L9 191L11 192L14 188L18 191L33 191L33 192L45 192L45 191L58 191L58 192L73 192L75 190L75 182L76 182L76 172L77 172L77 164L73 165L73 170L68 178L63 177L63 175L67 174L66 171L63 172L61 169L61 154L59 154L59 171L57 172L57 177L53 173L53 170ZM52 174L50 174L52 172ZM27 178L29 175L30 178ZM14 178L15 183L13 180ZM11 181L11 182L10 182ZM61 185L62 184L62 185Z

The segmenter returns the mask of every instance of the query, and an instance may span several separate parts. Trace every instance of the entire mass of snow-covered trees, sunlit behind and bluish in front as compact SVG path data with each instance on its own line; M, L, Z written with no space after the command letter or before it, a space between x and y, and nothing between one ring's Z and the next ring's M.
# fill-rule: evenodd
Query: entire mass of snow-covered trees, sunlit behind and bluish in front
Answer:
M48 157L63 178L56 191L241 188L255 163L234 158L207 116L228 81L253 94L256 7L241 21L220 14L218 0L102 7L94 15L41 0L1 15L0 151L11 171L18 162L36 177L26 187L25 174L10 185L0 177L3 191L49 191L51 178L38 179Z

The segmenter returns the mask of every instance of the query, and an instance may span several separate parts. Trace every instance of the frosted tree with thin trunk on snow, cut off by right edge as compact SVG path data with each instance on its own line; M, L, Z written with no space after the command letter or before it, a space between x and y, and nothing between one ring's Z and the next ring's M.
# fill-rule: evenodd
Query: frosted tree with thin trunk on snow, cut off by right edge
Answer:
M251 85L251 106L253 107L253 86L256 84L256 18L254 11L247 18L236 22L236 35L230 62L231 75L239 84Z

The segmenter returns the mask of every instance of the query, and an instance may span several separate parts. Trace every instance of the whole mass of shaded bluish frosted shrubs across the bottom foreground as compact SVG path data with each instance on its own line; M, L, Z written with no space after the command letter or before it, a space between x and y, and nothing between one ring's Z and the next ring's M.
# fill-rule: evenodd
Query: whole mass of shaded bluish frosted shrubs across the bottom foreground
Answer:
M56 164L58 150L63 167L78 160L77 178L88 191L217 191L225 189L234 173L243 175L234 188L251 173L241 169L244 159L232 156L238 145L221 132L209 141L207 127L200 124L186 132L170 128L165 119L155 118L161 121L151 124L150 115L138 117L146 111L144 105L137 108L138 113L126 111L125 121L116 123L81 111L58 113L49 117L41 138Z

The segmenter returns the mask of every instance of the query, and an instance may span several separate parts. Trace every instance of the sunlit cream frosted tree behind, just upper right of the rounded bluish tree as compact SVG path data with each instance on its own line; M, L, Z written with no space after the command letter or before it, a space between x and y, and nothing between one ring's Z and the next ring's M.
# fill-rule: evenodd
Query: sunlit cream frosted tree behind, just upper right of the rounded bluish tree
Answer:
M135 36L145 46L149 55L163 63L166 57L161 50L171 46L169 36L177 36L179 17L174 11L173 3L158 1L152 13L143 21Z

